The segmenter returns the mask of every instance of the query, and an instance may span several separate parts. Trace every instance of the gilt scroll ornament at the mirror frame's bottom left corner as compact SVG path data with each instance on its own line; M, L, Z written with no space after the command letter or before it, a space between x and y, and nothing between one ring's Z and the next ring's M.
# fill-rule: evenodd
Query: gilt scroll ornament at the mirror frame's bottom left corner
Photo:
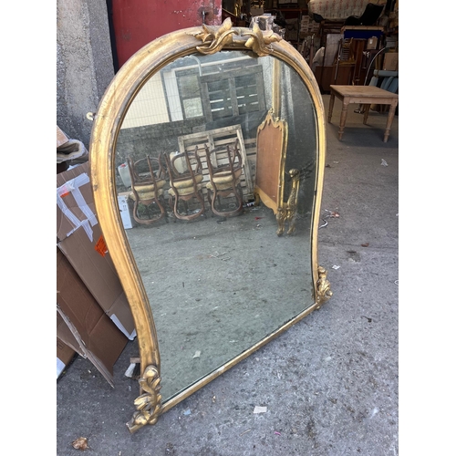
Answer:
M136 432L146 424L155 424L161 411L161 378L158 369L155 366L145 368L139 382L141 390L146 392L134 401L138 411L127 423L130 432Z

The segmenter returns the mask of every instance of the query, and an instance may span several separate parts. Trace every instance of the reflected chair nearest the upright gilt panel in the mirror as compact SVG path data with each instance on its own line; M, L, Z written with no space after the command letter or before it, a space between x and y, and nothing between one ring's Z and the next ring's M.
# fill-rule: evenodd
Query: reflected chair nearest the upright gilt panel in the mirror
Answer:
M226 146L227 159L217 166L212 164L212 156L217 161L215 150L210 151L208 145L204 146L206 162L210 181L206 184L207 199L216 215L231 217L243 212L243 189L241 187L241 174L243 173L243 159L239 151L239 140L234 146ZM223 209L221 198L235 197L234 209Z

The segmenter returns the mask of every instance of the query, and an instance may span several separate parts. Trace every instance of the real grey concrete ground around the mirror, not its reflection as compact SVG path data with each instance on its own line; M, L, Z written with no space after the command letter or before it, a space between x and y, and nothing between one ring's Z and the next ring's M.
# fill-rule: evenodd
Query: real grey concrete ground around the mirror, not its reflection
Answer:
M78 357L57 382L57 455L78 454L81 436L88 454L109 456L399 453L399 116L384 143L387 115L363 125L357 108L343 140L338 100L326 128L321 214L340 217L320 229L318 256L333 297L133 435L129 350L115 389Z

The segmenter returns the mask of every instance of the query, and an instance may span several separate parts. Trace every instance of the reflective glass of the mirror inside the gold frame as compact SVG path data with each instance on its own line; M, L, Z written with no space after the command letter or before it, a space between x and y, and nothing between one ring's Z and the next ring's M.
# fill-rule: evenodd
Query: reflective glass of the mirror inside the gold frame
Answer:
M254 197L257 135L268 113L286 127L284 201L298 192L295 233L285 230L280 236L275 212ZM116 186L153 312L164 402L315 303L316 138L315 106L295 69L247 51L179 57L150 75L130 104L116 143ZM217 195L220 211L212 212L206 147L214 166L226 163L230 150L239 150L240 210L232 193ZM177 171L186 171L182 152L192 156L195 149L204 212L200 200L182 198L178 212L187 218L179 218L170 201L168 166L172 161ZM143 190L151 196L132 192L129 160L135 182L149 185ZM299 172L297 188L290 170ZM136 198L140 223L132 216Z

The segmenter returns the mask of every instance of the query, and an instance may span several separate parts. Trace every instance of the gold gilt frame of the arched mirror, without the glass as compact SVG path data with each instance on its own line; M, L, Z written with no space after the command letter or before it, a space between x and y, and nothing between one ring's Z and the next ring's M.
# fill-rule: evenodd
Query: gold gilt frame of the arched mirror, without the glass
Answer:
M130 104L140 88L162 67L177 57L194 52L213 54L223 50L248 50L257 56L273 55L295 68L310 92L316 107L317 160L316 197L312 219L311 262L314 283L315 303L295 316L285 326L212 371L206 377L193 383L188 389L161 402L161 362L158 339L148 296L142 284L140 272L130 250L126 233L119 214L115 186L115 150L119 129ZM274 88L278 93L277 87ZM325 119L323 102L316 79L304 58L290 44L273 32L262 32L258 26L253 29L233 27L226 19L220 27L191 27L162 36L142 47L120 68L109 84L94 116L90 139L90 173L98 219L109 253L116 266L121 284L130 302L131 313L138 335L140 350L140 396L135 400L136 412L127 423L130 432L139 430L146 424L154 424L166 410L201 389L204 385L222 375L235 364L247 358L255 350L263 347L271 339L283 333L290 326L319 308L332 295L326 280L326 270L317 264L317 230L323 190L323 173L326 152Z

